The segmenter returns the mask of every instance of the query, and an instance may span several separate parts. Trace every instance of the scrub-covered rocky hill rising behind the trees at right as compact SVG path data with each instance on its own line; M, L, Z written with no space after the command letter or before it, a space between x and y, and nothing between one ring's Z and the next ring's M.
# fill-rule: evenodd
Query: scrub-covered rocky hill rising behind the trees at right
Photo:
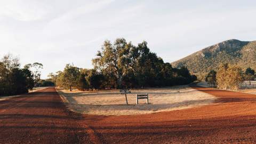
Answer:
M229 39L172 62L173 67L186 66L193 73L208 73L217 70L220 63L237 64L245 70L256 70L256 41L244 42Z

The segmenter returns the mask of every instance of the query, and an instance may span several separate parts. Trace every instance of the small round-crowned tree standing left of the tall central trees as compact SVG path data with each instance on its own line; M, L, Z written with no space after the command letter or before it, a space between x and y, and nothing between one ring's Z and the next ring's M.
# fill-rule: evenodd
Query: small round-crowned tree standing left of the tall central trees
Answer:
M70 87L70 91L72 91L72 86L76 85L77 78L80 75L79 68L74 65L67 64L63 71L63 82L65 82Z

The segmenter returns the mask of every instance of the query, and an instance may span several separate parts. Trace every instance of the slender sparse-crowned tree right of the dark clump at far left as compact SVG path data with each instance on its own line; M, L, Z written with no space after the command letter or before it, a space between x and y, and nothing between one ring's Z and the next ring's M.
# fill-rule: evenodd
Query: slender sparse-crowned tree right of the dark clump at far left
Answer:
M35 87L36 87L37 83L41 79L41 71L40 71L40 69L43 69L43 64L42 63L38 63L38 62L35 62L33 64L29 63L29 64L25 65L24 68L30 69L31 71L33 71Z

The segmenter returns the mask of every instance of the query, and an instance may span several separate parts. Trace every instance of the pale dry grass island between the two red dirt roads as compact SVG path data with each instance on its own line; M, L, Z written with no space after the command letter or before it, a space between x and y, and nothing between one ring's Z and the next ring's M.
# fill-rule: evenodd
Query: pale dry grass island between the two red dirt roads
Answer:
M89 115L138 115L202 106L212 103L213 95L191 89L187 85L166 88L134 89L125 95L119 90L77 91L58 90L68 107L78 113ZM136 94L149 94L136 105Z

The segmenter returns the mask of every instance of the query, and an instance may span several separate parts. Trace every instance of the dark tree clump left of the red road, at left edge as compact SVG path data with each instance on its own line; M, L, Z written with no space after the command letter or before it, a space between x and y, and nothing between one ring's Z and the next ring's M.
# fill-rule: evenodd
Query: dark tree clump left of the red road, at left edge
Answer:
M4 55L0 60L0 95L27 93L29 89L33 89L40 79L40 71L38 69L35 73L31 69L38 67L38 64L34 63L31 66L20 68L18 58L12 57L11 54Z

